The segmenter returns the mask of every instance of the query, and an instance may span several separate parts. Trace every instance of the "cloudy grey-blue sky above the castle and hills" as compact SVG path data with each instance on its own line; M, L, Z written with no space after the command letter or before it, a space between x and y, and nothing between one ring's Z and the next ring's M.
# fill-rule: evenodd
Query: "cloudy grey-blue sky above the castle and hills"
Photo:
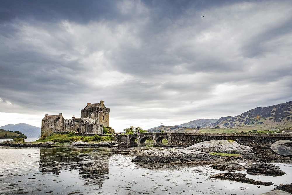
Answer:
M292 1L0 1L0 126L100 100L117 132L291 101L291 13Z

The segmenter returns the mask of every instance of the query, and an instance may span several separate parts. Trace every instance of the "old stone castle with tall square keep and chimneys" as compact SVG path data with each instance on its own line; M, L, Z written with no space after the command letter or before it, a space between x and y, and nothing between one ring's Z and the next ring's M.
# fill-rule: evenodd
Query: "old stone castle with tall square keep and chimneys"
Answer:
M87 103L81 110L81 118L64 119L59 115L45 115L41 120L41 137L53 132L79 132L88 134L102 134L102 127L109 126L109 108L100 103Z

